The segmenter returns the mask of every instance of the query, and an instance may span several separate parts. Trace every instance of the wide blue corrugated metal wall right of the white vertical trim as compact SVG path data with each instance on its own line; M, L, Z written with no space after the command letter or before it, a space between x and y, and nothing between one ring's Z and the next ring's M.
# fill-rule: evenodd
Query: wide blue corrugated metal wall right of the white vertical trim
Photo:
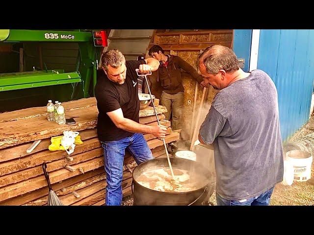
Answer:
M258 69L273 79L286 141L309 120L314 82L314 30L261 30Z

